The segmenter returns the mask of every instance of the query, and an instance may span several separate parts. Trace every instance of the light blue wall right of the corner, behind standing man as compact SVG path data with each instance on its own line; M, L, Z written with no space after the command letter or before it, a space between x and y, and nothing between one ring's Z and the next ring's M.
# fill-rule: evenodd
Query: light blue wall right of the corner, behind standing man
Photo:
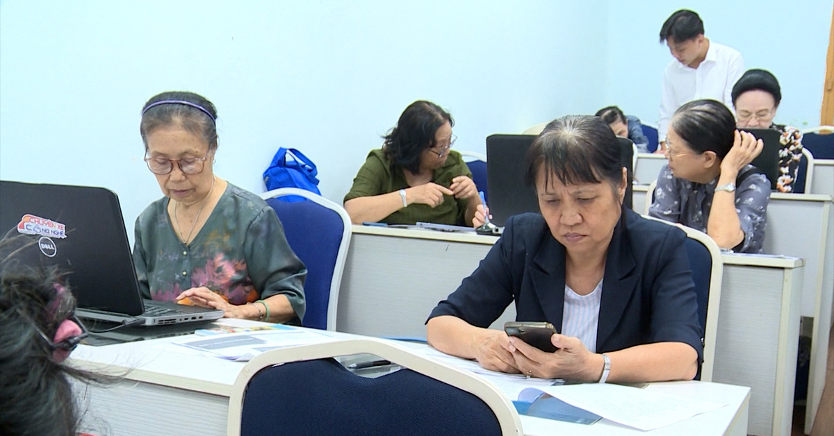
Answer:
M820 123L831 0L636 2L608 4L607 104L619 104L645 123L657 124L663 68L673 58L659 43L661 25L678 9L696 11L704 33L741 52L745 68L764 68L779 80L777 123L798 128ZM600 108L604 107L600 106Z

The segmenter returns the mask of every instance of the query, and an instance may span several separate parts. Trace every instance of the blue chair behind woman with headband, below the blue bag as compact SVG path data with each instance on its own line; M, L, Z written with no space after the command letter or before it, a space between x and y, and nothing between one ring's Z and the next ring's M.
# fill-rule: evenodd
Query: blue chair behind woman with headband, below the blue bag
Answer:
M287 203L280 197L294 195L306 201ZM348 256L351 223L339 204L299 188L279 188L261 194L284 225L289 247L307 267L304 327L336 329L336 306Z

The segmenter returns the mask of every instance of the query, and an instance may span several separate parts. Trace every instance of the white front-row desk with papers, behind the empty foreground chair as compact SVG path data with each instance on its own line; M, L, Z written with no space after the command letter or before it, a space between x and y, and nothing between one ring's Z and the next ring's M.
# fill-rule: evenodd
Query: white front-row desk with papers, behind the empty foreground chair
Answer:
M104 347L79 346L73 352L70 361L73 364L118 373L129 370L114 386L85 387L76 382L78 396L88 410L83 417L83 429L120 436L224 434L229 392L244 363L158 348L173 339L176 338ZM749 388L703 382L653 383L648 388L729 404L658 428L651 434L746 434ZM521 423L525 434L536 436L558 434L560 430L565 434L646 434L605 422L586 426L522 416Z

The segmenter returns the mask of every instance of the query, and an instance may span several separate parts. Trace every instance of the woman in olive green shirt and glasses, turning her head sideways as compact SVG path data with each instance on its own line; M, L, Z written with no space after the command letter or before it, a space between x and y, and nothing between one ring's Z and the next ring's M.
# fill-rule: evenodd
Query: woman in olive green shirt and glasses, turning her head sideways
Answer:
M471 226L480 197L470 169L451 149L454 123L435 103L420 100L405 108L344 196L350 219Z

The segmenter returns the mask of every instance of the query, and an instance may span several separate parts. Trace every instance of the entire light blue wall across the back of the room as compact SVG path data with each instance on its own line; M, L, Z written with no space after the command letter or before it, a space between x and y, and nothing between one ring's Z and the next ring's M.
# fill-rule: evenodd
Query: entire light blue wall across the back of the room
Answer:
M764 3L693 8L708 36L781 79L781 121L814 123L831 1L788 13ZM670 59L656 34L674 8L634 4L4 0L0 178L111 188L132 233L161 195L142 162L139 110L173 89L219 108L220 177L263 192L275 149L300 148L339 203L415 99L449 109L455 147L481 153L490 133L610 103L653 121Z

